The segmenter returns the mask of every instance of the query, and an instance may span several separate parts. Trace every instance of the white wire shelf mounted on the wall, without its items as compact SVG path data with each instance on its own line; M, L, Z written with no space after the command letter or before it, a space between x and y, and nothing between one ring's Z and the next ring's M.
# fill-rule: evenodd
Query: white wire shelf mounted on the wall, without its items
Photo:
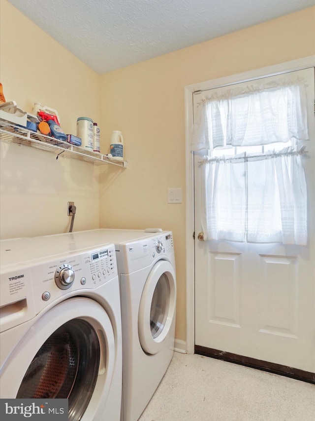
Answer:
M0 141L16 143L18 145L40 149L41 151L52 152L57 155L56 159L58 159L59 156L63 156L91 162L94 165L112 164L122 168L126 168L127 166L127 161L107 158L106 155L101 153L87 151L84 148L33 132L25 127L16 126L2 119L0 119Z

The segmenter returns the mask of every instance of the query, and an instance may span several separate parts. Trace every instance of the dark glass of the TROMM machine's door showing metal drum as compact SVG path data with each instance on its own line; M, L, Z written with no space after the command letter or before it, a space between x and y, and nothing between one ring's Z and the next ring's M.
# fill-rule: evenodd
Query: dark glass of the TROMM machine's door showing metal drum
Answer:
M99 360L94 328L79 318L69 320L40 347L16 397L68 398L68 420L81 420L95 388Z

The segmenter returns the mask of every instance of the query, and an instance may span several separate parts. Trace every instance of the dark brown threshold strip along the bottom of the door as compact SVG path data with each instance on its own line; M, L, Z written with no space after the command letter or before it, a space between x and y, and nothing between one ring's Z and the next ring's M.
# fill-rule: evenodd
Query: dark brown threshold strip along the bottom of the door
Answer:
M311 373L309 371L270 363L256 358L244 357L243 355L220 351L219 349L207 348L200 345L195 345L195 354L217 358L234 364L240 364L257 370L267 371L269 373L279 374L280 376L290 377L295 380L301 380L302 382L315 384L315 373Z

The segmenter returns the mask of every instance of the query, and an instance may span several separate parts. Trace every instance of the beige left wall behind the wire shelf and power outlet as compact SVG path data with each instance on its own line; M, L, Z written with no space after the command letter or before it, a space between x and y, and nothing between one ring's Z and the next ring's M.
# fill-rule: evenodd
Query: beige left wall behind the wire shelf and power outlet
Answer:
M6 101L32 112L35 101L58 110L66 133L76 119L99 120L99 75L0 0L0 80ZM1 148L1 238L67 232L67 201L75 230L99 224L98 174L92 164L14 144Z

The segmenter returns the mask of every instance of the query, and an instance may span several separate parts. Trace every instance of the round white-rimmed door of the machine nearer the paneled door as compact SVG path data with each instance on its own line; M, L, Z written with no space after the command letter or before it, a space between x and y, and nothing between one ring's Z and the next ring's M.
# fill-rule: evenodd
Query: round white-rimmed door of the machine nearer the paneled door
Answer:
M163 346L175 319L175 306L175 269L160 260L147 278L139 307L138 334L145 352L156 354Z

